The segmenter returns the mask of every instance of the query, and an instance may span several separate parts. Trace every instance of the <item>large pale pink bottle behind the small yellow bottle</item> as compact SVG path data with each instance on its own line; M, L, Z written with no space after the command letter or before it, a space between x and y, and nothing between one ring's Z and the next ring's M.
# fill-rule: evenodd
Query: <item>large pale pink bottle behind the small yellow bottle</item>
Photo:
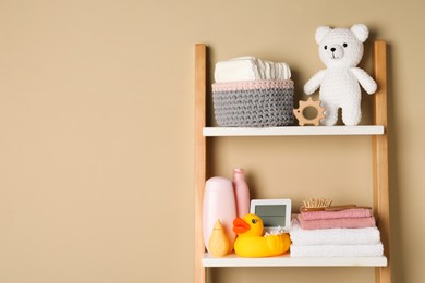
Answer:
M233 250L236 238L236 234L233 232L233 220L235 218L236 205L232 182L221 176L208 179L205 184L203 207L203 236L208 251L209 238L217 220L220 220L229 238L229 253Z

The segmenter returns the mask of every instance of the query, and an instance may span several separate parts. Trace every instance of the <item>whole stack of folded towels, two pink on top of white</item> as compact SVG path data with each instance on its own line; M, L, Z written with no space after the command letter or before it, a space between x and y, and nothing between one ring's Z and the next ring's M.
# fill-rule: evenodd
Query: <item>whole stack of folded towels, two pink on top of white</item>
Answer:
M292 220L292 257L378 257L380 233L371 209L302 211Z

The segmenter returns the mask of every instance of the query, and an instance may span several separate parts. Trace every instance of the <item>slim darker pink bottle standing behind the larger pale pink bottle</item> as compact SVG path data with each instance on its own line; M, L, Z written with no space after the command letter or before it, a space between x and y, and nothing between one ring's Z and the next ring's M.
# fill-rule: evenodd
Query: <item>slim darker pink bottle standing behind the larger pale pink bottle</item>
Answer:
M245 172L241 168L233 170L233 189L238 217L243 218L250 213L250 188L245 182Z

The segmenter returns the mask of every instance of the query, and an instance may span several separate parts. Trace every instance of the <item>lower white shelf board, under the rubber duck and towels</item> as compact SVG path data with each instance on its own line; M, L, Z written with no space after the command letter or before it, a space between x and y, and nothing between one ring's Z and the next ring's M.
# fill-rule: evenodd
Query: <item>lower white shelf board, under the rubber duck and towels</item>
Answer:
M386 267L387 258L381 257L329 257L304 258L291 257L289 254L268 258L242 258L235 254L215 258L205 253L204 267Z

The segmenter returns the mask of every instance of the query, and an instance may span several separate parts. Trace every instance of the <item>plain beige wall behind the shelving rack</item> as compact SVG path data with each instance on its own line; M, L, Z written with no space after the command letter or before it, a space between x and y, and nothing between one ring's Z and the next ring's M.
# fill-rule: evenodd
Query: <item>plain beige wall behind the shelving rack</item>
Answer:
M354 23L389 42L393 282L424 282L424 9L421 0L0 1L0 282L193 282L194 44L208 44L212 60L287 61L301 96L323 67L316 27ZM215 142L223 153L210 173L244 167L255 196L295 204L318 194L371 200L357 193L369 189L367 137L266 138L264 151L241 157L257 140ZM318 153L331 174L305 157L290 162L295 152ZM210 274L373 282L369 268Z

